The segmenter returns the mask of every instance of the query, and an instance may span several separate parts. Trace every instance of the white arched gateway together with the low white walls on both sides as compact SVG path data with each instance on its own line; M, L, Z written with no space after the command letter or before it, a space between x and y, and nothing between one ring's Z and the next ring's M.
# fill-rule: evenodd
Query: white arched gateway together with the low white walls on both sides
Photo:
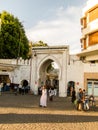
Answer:
M58 68L48 72L54 62ZM83 88L83 63L76 55L69 54L69 46L33 48L32 58L26 61L0 59L0 82L19 85L23 80L28 81L35 95L39 87L50 83L48 86L55 85L59 97L66 97L68 88L75 87L77 91L78 87Z

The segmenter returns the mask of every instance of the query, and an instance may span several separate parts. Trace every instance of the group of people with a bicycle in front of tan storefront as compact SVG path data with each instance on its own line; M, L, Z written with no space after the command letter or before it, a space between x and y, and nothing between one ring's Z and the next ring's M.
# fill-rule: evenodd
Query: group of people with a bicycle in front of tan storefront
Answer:
M89 110L89 104L94 103L94 96L88 96L85 89L82 90L82 88L79 88L79 91L76 95L75 88L72 90L72 103L75 103L77 110ZM93 105L93 104L92 104Z

